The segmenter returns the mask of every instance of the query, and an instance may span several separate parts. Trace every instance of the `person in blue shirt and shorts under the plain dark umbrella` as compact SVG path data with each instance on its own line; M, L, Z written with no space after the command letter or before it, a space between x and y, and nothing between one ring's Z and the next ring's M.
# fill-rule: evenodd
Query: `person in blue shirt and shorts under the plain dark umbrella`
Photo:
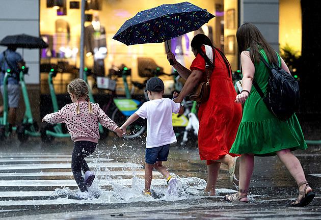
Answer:
M0 88L4 92L4 77L9 69L12 76L8 78L8 105L9 105L9 126L16 126L17 107L19 105L20 86L19 72L24 66L24 61L19 53L16 52L17 46L8 45L8 48L0 54ZM0 114L4 112L4 106L0 106Z

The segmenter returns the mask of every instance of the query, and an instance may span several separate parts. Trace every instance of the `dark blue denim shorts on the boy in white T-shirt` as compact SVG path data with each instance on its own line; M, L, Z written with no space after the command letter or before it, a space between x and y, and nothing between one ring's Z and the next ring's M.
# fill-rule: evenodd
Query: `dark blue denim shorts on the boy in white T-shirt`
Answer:
M145 162L148 164L155 164L157 161L167 161L169 147L170 144L160 147L146 148Z

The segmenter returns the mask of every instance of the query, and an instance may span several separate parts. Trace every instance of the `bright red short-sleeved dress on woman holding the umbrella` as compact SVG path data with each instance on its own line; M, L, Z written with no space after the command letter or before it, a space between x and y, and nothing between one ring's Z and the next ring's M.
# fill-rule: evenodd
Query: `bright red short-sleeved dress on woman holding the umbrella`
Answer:
M203 51L205 51L205 48ZM198 118L198 148L201 160L207 160L207 165L229 153L242 120L242 105L234 102L236 91L224 63L224 58L215 49L215 68L209 78L210 94L207 102L200 104ZM191 70L200 70L203 74L201 81L206 81L205 60L197 54L192 62Z

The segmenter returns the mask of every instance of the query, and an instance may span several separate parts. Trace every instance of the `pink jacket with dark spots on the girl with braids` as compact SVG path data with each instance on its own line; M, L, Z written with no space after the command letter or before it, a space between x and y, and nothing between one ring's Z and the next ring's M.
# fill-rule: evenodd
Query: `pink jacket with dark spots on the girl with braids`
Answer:
M74 142L91 141L98 143L98 122L112 131L115 131L118 126L102 111L99 104L91 104L93 115L88 112L88 102L79 101L81 113L78 115L76 114L77 102L73 102L65 105L58 112L47 114L44 120L48 123L66 123L71 140Z

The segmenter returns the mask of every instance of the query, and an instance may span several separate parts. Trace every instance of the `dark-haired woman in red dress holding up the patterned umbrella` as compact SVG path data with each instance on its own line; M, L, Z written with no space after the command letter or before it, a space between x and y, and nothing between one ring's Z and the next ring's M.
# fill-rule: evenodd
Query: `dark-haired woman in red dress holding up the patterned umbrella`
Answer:
M205 54L205 46L213 50L213 62ZM219 175L221 163L225 163L230 170L231 178L234 176L237 154L229 153L235 140L238 125L242 119L242 105L235 103L236 91L232 82L232 71L223 52L215 48L206 35L198 34L191 42L195 59L186 69L168 51L167 59L173 59L173 67L186 79L180 94L174 99L182 102L183 98L200 81L206 81L205 64L213 67L209 78L210 94L207 102L200 103L198 118L200 127L198 131L198 148L201 160L207 163L207 186L204 191L215 196L215 185Z

